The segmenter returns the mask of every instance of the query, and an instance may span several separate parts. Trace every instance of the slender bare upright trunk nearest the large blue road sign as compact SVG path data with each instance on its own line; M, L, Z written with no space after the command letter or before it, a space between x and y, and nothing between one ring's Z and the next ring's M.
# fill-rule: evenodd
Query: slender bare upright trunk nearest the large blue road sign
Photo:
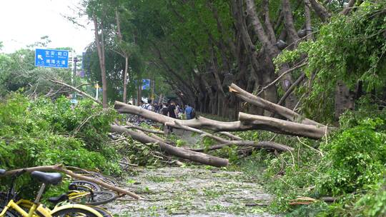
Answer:
M101 67L102 72L102 105L103 108L107 108L107 81L106 81L106 66L105 66L105 59L104 59L104 31L103 31L103 23L102 23L102 39L99 39L98 34L98 21L97 16L93 15L92 19L94 21L94 34L95 34L95 42L97 44L97 50L98 50L98 56L99 56L99 66Z

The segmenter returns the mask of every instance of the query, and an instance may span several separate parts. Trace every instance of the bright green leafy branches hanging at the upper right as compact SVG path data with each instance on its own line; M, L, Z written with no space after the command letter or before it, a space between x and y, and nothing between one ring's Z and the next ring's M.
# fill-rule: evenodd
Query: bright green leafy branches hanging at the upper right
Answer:
M300 90L308 96L303 106L308 116L333 119L338 82L352 91L361 82L363 92L382 98L386 86L385 8L384 1L365 1L350 16L334 16L322 25L316 41L304 41L276 60L279 64L307 55L305 74L310 79L315 76L312 86Z

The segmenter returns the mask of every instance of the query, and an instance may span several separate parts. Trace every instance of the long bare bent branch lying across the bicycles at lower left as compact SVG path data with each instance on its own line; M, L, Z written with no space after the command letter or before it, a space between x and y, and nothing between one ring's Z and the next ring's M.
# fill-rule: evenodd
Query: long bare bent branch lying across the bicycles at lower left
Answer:
M105 183L103 181L97 180L95 178L91 178L89 176L81 176L79 174L76 174L73 171L70 171L70 170L66 169L66 167L63 166L62 164L56 164L54 166L35 166L35 167L29 167L29 168L14 169L14 170L11 170L11 171L6 171L4 176L11 176L14 173L17 173L17 172L22 171L24 169L28 173L31 173L33 171L44 171L44 172L46 172L46 171L57 171L57 172L61 172L61 173L66 173L67 175L69 175L69 176L71 176L73 178L78 178L78 179L81 179L81 180L84 180L84 181L91 181L91 182L97 183L98 185L103 186L104 188L108 188L108 189L110 189L112 191L117 191L118 193L127 194L127 195L131 196L132 198L136 198L136 199L141 198L137 194L132 193L130 191L127 191L125 189L119 188L117 186L109 185L108 183Z

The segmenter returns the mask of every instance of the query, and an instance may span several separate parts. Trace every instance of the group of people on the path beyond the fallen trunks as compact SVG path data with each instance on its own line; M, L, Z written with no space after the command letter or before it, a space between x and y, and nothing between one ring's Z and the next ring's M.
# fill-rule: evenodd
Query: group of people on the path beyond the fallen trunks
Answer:
M169 116L171 118L186 118L187 120L189 120L196 116L196 113L192 106L187 104L183 109L182 106L179 106L179 104L176 104L174 101L169 101L167 104L152 104L152 100L149 99L147 103L141 101L139 106L141 106L143 109L161 113L164 116Z

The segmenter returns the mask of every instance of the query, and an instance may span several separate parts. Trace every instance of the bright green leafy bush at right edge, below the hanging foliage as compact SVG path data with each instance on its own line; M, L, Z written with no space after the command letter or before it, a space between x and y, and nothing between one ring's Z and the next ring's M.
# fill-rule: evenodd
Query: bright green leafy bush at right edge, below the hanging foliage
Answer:
M382 178L386 166L386 133L378 128L385 126L385 120L365 118L359 122L321 147L327 153L321 168L324 175L318 183L321 193L334 196L352 193Z

